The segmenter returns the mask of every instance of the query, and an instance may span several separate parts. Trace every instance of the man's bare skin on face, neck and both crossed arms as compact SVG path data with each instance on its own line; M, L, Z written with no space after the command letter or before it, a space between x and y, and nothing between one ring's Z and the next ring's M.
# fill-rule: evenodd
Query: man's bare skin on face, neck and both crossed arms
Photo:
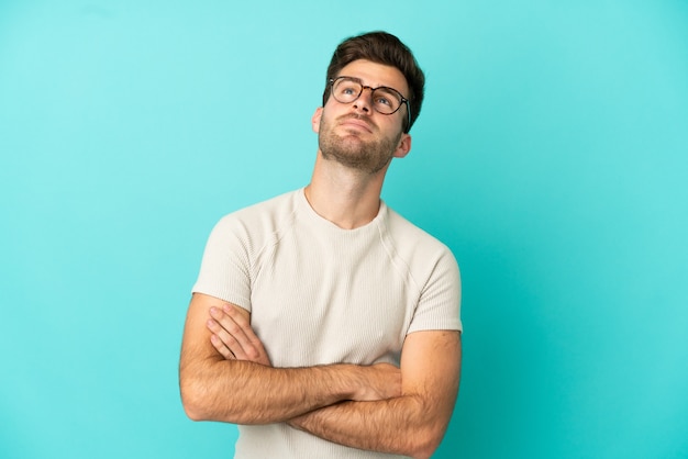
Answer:
M356 60L341 75L409 93L393 67ZM406 107L382 115L369 97L365 90L349 104L330 98L312 117L320 143L306 197L318 214L343 228L377 215L390 160L411 148L401 128ZM196 293L184 332L181 398L197 421L287 422L342 445L424 458L440 445L452 416L460 352L458 332L428 331L407 336L400 368L274 368L247 311Z

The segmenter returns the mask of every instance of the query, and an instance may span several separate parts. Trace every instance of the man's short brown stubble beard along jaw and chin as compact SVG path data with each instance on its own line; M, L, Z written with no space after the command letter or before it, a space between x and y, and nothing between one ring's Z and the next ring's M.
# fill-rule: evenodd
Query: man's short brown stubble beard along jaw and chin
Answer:
M389 164L400 139L401 133L395 138L380 137L374 141L364 141L354 133L341 136L334 133L324 117L320 120L318 144L323 159L334 160L369 175L380 171Z

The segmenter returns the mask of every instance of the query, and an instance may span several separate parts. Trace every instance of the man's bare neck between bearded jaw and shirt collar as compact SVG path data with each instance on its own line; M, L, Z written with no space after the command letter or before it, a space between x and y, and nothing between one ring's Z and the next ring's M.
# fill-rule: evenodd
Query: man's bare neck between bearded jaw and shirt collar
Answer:
M363 226L378 214L388 166L370 175L325 160L318 152L306 199L315 213L342 228Z

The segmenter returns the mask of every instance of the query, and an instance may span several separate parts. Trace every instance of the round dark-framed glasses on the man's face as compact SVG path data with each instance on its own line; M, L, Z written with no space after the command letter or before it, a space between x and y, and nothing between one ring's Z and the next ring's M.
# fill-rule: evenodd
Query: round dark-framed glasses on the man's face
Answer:
M352 103L363 94L364 89L369 89L373 109L385 115L397 113L401 105L406 103L408 115L407 126L411 125L411 105L409 104L409 100L401 96L401 92L396 89L386 86L370 88L369 86L363 85L358 78L354 77L330 79L330 85L332 86L334 100L341 103Z

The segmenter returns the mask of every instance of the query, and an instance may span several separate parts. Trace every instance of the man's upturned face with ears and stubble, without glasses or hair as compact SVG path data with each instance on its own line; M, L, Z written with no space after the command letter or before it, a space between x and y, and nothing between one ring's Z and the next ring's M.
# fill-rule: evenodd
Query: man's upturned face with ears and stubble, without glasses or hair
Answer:
M357 78L364 86L393 88L404 97L409 89L403 75L395 67L354 60L339 76ZM390 115L373 109L371 91L364 89L351 103L332 96L313 115L313 130L322 157L370 175L382 170L392 157L402 157L411 147L411 137L402 132L408 107Z

